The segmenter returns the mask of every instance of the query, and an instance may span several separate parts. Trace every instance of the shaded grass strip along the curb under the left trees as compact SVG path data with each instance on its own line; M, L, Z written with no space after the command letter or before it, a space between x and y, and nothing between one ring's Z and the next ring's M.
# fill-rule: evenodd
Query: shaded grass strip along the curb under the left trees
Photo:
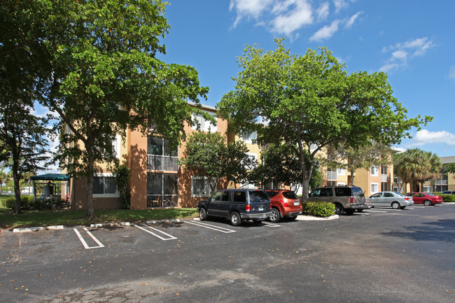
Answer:
M0 203L1 204L1 203ZM51 210L34 211L22 210L15 215L13 210L0 207L0 228L40 227L49 225L89 225L93 223L119 223L146 220L183 219L197 217L197 209L146 209L130 211L113 209L94 211L94 220L86 220L85 211Z

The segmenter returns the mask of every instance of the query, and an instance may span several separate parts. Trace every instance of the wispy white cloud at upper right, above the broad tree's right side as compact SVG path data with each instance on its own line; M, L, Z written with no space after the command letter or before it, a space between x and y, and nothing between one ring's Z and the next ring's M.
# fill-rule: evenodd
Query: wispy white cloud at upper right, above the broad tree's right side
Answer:
M433 41L428 37L416 38L404 43L397 43L382 48L382 52L391 52L386 63L379 68L380 71L393 71L407 66L409 59L425 55L426 50L435 47ZM411 55L409 55L411 54Z

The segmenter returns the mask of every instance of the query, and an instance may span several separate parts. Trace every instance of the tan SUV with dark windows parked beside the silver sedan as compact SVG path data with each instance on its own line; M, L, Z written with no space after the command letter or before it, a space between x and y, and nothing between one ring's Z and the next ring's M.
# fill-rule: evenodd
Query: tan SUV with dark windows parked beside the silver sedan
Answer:
M316 188L308 197L309 201L332 202L335 204L335 214L341 215L343 211L351 215L354 211L363 211L368 206L365 204L363 190L357 186L325 186Z

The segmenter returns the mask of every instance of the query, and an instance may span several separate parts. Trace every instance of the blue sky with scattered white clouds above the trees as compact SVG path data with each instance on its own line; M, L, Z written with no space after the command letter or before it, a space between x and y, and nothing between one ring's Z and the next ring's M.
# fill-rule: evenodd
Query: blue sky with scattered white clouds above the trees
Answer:
M244 45L274 49L274 37L304 55L325 46L348 73L385 71L408 117L433 122L401 149L455 155L455 1L370 0L170 0L171 26L162 41L166 63L195 67L215 106L233 89Z

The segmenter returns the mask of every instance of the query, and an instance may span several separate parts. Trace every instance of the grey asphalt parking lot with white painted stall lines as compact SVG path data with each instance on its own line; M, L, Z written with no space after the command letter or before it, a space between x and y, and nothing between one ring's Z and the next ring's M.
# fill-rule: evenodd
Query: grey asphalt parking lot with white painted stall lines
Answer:
M444 204L239 227L2 231L2 301L453 302L454 214Z

